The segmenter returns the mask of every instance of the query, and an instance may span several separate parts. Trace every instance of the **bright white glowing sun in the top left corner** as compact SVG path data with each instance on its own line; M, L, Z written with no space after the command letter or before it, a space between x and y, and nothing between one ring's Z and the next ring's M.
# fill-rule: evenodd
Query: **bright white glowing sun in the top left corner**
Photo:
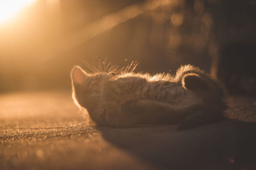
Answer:
M10 20L26 6L36 0L0 0L0 24Z

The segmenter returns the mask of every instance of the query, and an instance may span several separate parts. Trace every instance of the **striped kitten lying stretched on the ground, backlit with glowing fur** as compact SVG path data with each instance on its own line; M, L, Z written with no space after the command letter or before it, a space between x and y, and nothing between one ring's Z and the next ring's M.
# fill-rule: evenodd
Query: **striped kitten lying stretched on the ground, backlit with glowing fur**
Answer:
M122 71L89 74L75 66L73 99L96 125L179 124L190 129L220 121L225 89L198 67L186 65L175 76Z

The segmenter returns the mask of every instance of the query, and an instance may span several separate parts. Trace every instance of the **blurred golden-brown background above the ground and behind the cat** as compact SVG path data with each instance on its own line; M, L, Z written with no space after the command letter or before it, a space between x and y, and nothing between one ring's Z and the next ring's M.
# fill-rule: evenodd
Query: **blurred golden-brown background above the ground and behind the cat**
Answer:
M201 67L256 96L256 0L1 0L0 92L70 90L70 70Z

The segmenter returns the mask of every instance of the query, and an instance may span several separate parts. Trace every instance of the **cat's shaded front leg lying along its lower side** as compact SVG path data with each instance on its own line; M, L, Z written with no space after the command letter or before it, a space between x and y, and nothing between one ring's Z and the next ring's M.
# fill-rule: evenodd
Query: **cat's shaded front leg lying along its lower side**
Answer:
M184 119L170 104L150 100L125 101L121 111L134 124L174 124Z

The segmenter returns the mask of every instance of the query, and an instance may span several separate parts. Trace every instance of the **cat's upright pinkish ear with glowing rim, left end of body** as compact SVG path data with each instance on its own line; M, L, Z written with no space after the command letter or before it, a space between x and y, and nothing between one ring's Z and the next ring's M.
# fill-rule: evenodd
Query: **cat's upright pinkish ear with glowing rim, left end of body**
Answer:
M71 78L76 84L83 84L88 74L79 66L75 66L71 71Z

